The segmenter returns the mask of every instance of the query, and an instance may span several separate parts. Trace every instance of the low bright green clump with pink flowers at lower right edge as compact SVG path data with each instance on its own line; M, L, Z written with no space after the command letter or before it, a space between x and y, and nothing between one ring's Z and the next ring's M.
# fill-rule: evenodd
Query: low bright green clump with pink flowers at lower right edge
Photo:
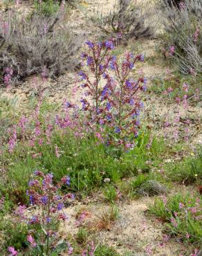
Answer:
M199 194L175 194L156 199L150 212L166 222L166 230L183 241L201 244L202 197Z

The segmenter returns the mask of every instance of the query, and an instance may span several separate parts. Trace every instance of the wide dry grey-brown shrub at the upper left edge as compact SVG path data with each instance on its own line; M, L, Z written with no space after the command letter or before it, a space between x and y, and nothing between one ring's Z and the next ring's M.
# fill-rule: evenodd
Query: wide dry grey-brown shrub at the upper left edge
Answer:
M0 22L0 71L6 84L37 73L55 77L77 65L73 53L80 38L62 24L59 15L25 18L9 12Z

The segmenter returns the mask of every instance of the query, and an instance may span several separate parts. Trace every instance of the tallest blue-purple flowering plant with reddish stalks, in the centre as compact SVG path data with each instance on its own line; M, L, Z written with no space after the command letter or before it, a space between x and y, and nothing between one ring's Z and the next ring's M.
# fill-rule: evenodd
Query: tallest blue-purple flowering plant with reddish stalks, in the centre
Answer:
M133 147L140 127L138 116L143 108L139 91L146 90L147 80L144 77L132 79L130 74L136 62L143 61L144 57L127 53L125 60L120 63L116 56L108 55L114 48L112 42L86 44L89 54L83 53L82 57L93 75L93 82L84 71L79 75L84 81L82 88L86 89L86 98L81 102L82 110L89 113L88 125L93 122L99 124L104 135L97 133L97 137L105 137L107 144L112 145L116 140L116 145ZM115 140L113 134L116 134Z

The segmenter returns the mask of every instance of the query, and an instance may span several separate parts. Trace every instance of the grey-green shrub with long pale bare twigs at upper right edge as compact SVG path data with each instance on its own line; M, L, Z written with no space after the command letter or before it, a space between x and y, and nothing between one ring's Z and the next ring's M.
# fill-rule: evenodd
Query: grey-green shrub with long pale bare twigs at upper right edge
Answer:
M185 0L179 9L162 1L165 51L182 73L202 72L202 2Z

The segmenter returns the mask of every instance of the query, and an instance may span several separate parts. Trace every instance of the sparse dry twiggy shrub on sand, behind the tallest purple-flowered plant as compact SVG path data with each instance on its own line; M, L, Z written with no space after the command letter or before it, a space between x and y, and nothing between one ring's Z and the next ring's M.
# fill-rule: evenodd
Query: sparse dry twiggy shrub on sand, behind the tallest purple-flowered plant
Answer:
M131 0L118 0L113 11L103 15L98 8L97 16L91 20L107 36L120 39L154 37L157 20L154 17L154 8L147 4L134 3Z

